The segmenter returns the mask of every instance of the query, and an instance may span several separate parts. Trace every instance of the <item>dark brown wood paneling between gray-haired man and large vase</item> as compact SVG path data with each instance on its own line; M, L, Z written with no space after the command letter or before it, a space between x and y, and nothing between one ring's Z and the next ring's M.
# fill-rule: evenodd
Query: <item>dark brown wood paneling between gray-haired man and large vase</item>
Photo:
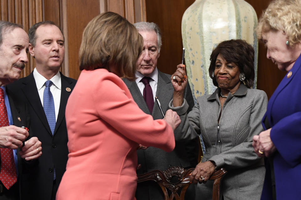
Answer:
M185 10L194 0L146 0L146 19L155 22L162 32L162 47L157 67L160 71L172 74L182 62L181 23Z

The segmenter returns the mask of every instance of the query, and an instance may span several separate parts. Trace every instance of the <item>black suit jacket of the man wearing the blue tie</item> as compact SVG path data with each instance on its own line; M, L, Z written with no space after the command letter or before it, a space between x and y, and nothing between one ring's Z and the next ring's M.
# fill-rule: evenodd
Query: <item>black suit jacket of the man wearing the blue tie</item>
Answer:
M58 186L61 182L68 159L65 108L71 92L66 91L66 88L72 91L75 83L75 79L61 74L61 102L54 135L50 131L33 73L9 85L9 89L19 99L27 102L30 114L29 130L32 136L38 137L42 142L42 155L37 164L30 168L23 166L21 192L24 199L47 200L51 198L54 168L56 185Z

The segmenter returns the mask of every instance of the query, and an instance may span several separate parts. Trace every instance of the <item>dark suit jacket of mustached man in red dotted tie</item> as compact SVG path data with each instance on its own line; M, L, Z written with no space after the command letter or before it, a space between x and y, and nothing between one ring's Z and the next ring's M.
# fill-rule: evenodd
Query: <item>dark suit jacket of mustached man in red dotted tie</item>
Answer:
M10 109L11 109L11 113L12 113L13 125L17 126L17 127L22 127L22 126L29 127L29 113L28 113L28 108L26 107L26 104L24 102L20 101L18 98L16 98L13 95L13 93L11 91L9 91L8 89L6 89L6 93L8 95L9 105L10 105ZM19 197L18 198L15 198L15 197L9 198L12 200L20 198L20 188L21 188L21 182L22 182L21 174L22 174L22 165L23 165L22 163L26 164L26 161L20 157L19 152L20 152L20 149L18 148L17 149L18 179L17 179L17 183L15 183L15 184L18 184L19 195L17 195L17 196L19 196ZM1 160L0 160L0 168L1 168Z

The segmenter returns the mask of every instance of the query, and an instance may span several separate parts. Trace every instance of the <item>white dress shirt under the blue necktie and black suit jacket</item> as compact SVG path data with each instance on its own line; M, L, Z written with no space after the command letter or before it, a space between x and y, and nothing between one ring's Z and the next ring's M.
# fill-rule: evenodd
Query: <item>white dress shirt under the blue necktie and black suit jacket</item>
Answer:
M43 96L44 96L44 89L45 89L45 82L47 79L43 77L36 68L34 68L34 80L37 84L38 93L40 96L40 100L43 105ZM50 79L52 81L52 85L50 86L50 92L52 93L53 100L54 100L54 108L55 108L55 121L57 120L57 116L59 114L59 108L60 108L60 102L61 102L61 89L62 89L62 83L61 83L61 74L58 72L55 74L54 77Z

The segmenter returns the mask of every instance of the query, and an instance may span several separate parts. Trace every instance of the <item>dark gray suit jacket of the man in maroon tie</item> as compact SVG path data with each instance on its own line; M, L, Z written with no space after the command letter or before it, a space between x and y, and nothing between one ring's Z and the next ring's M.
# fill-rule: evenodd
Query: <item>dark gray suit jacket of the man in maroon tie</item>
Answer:
M158 70L158 85L156 91L156 97L161 103L161 107L164 113L168 110L168 103L173 97L173 86L170 80L171 75L162 73ZM153 113L150 113L145 100L135 81L131 82L128 79L123 79L124 83L128 86L135 102L139 108L146 114L151 114L156 119L162 119L162 113L158 104L155 102ZM189 84L186 87L184 98L189 104L189 112L193 106L193 96ZM175 135L176 147L175 149L167 153L159 148L149 147L146 150L138 150L138 164L141 164L141 168L137 170L137 174L150 172L155 169L166 170L169 165L180 166L183 168L194 168L197 164L198 157L198 138L184 138L184 134ZM149 194L149 195L148 195ZM149 196L149 197L148 197ZM137 200L144 199L163 199L163 193L161 188L156 183L138 183L136 191Z

